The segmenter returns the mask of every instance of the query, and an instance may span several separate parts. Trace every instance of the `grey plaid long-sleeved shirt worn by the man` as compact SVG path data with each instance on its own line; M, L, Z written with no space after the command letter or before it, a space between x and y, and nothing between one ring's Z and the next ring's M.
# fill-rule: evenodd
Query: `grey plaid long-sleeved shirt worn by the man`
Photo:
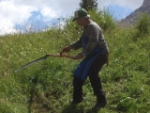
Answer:
M82 38L88 37L88 43L85 48L82 49L81 54L87 56L92 52L92 50L95 47L103 48L103 52L108 53L108 46L105 41L105 38L102 34L102 30L100 26L95 23L94 21L90 20L88 25L84 27L83 33L79 40L77 40L75 43L71 44L71 47L74 50L77 50L82 47Z

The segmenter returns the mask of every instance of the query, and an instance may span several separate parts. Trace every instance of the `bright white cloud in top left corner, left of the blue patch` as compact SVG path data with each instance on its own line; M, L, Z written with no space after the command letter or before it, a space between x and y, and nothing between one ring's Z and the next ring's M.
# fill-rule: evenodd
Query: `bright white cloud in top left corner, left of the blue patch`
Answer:
M23 24L32 10L32 7L16 5L13 1L1 1L0 34L15 32L15 24Z

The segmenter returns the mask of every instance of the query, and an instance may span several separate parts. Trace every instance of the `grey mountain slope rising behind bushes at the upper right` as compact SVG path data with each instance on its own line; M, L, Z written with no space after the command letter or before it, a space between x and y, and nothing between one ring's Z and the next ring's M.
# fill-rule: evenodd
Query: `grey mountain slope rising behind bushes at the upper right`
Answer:
M119 25L122 27L133 25L142 13L150 14L150 0L144 0L143 4L125 19L122 19Z

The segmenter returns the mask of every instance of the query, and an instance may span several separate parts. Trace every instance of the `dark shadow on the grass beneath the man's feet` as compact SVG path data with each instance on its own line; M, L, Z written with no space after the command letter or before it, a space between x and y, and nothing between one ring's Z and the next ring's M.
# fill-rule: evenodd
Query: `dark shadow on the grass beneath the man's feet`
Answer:
M98 113L98 111L99 109L95 108L85 110L83 105L81 104L79 105L70 104L64 107L61 113Z

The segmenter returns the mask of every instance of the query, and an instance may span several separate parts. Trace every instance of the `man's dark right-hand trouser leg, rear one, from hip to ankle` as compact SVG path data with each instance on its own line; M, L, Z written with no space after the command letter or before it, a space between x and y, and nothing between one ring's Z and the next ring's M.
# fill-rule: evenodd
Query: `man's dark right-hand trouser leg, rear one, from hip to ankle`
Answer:
M106 61L107 55L100 54L93 62L88 73L91 86L93 88L94 94L97 97L98 102L106 102L106 96L102 88L101 78L98 76L98 73L100 72Z

